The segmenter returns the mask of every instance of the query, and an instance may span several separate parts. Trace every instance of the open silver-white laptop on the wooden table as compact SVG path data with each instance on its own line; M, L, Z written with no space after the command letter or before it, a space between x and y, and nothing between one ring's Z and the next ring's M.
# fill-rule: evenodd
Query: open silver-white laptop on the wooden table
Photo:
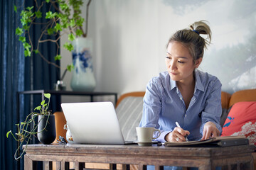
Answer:
M124 141L112 102L62 103L61 108L79 144L134 144Z

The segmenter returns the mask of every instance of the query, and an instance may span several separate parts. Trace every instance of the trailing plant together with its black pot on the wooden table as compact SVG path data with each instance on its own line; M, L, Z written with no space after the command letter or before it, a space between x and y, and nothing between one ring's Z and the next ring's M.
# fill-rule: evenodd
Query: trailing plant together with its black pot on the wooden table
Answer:
M11 130L6 133L6 137L9 137L11 134L14 137L14 140L18 142L18 147L14 154L15 159L19 159L26 152L26 146L31 141L32 137L38 137L38 140L43 144L50 144L55 140L55 118L51 114L51 111L48 111L50 103L50 94L44 94L48 98L48 103L46 100L41 101L41 105L36 107L34 111L26 116L26 120L16 124L17 132L14 134ZM38 122L36 123L36 118ZM21 154L19 153L22 146L25 145Z

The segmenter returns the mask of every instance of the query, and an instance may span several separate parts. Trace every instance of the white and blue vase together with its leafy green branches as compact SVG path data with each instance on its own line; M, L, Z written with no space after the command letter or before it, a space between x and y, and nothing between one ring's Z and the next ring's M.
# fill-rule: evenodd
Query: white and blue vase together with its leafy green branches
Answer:
M87 1L86 16L83 18L80 9L83 6L82 0L34 0L33 6L28 6L21 11L22 27L16 28L16 35L23 43L26 57L38 54L48 64L52 64L59 69L60 66L44 57L43 52L40 51L40 45L45 42L52 42L56 47L54 59L61 60L59 40L63 34L68 34L68 42L65 42L63 47L73 53L73 63L68 64L58 84L63 83L66 70L71 72L75 68L71 80L73 81L71 87L74 90L82 90L85 87L88 91L92 91L95 88L92 57L90 55L91 42L87 40L88 10L91 1ZM14 6L14 11L17 11L17 8L20 7ZM47 10L44 11L43 7ZM46 22L41 23L41 18L46 18ZM83 23L85 23L85 28L83 28ZM42 28L41 35L36 40L36 44L33 44L31 28L38 25Z

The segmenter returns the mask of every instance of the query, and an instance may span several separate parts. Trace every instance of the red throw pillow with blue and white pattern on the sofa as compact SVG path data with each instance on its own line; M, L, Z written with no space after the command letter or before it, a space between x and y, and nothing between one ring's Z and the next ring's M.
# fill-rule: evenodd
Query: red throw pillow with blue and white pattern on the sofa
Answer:
M235 103L223 125L221 136L244 135L251 144L256 145L256 102Z

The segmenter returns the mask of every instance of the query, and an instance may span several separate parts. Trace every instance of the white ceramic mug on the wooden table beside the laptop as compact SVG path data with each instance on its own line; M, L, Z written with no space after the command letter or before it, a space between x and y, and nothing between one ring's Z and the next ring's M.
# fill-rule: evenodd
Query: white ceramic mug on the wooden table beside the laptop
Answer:
M152 140L156 139L157 137L153 137L154 131L159 131L159 137L161 135L160 130L151 128L151 127L137 127L136 132L137 132L137 137L138 137L138 142L152 142Z

